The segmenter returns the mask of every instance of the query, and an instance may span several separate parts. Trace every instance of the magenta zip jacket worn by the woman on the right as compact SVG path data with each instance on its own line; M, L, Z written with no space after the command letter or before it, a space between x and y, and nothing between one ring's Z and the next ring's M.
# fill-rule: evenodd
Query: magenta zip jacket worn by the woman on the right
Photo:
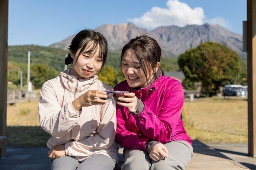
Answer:
M117 104L116 139L120 146L146 150L145 144L150 139L163 144L175 140L192 144L181 120L184 92L178 80L160 76L152 85L140 90L130 88L125 80L114 89L134 92L144 103L139 115Z

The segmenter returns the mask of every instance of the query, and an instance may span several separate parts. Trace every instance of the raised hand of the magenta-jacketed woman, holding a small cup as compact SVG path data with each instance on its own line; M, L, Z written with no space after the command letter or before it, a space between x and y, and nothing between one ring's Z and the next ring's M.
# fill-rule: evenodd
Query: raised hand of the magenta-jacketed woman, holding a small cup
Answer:
M136 106L137 106L137 97L135 96L134 93L125 93L124 96L127 96L127 98L119 97L118 100L127 102L127 103L118 101L117 104L119 104L120 106L123 106L123 107L127 107L131 113L135 113Z

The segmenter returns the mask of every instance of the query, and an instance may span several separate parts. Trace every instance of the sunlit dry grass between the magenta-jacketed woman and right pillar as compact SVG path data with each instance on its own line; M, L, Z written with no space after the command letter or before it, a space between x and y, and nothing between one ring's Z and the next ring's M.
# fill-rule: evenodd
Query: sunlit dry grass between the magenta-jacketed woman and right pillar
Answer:
M246 143L247 100L199 98L185 102L185 127L192 139L203 142Z

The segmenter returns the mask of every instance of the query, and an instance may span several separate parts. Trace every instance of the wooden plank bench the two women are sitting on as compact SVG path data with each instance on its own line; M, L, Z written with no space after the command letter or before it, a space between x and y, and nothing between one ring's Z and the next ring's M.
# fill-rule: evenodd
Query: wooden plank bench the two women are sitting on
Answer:
M194 156L187 170L245 170L249 169L238 162L226 157L200 141L193 140ZM116 170L123 165L123 148L119 148L119 164Z

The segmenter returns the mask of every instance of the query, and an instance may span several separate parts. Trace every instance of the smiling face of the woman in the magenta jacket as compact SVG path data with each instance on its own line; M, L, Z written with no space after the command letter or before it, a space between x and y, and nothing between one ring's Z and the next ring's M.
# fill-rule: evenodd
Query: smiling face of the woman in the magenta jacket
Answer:
M132 49L127 49L123 55L122 72L130 87L146 87L148 84L146 76L143 72L142 65L137 60L135 53ZM153 70L149 71L150 79L153 77Z

